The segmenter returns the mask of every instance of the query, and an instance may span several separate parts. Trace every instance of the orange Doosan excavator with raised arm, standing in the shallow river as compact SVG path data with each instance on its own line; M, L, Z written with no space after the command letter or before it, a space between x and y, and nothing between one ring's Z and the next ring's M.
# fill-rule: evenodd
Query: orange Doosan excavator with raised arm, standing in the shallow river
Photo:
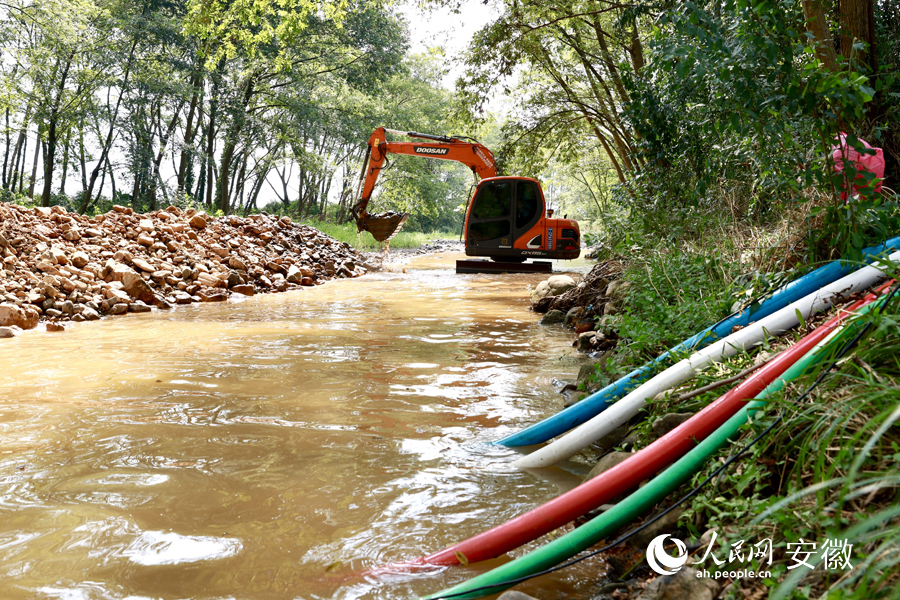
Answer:
M389 142L387 133L427 141ZM384 127L376 129L369 138L360 173L359 201L351 210L358 230L370 232L377 241L389 241L409 216L409 213L366 212L375 182L387 163L388 154L392 153L461 162L480 180L466 208L466 255L486 256L500 263L523 263L528 258L578 258L581 253L578 223L553 218L536 179L498 176L494 155L485 146L470 138ZM527 270L549 270L550 263L542 264L547 268Z

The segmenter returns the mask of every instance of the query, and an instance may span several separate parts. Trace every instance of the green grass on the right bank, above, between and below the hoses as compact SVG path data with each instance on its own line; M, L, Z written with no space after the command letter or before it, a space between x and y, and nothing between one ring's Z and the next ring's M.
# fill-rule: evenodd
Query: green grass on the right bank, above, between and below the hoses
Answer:
M804 224L800 218L792 220ZM624 277L631 285L617 302L619 314L603 325L615 329L620 342L592 383L602 386L617 379L715 322L735 301L747 302L818 266L811 262L815 253L806 247L804 229L781 222L675 243L654 243L634 232L620 238L625 242L611 252L628 264ZM894 276L898 273L895 266ZM670 501L683 496L783 414L782 423L684 506L681 531L695 540L707 530L716 531L714 554L719 558L727 557L729 547L740 540L745 551L749 544L772 540L771 566L754 559L734 570L768 569L773 577L735 581L720 598L900 598L900 294L883 313L861 319L872 322L870 331L810 397L793 402L818 373L773 398L734 445L670 496ZM798 336L791 332L769 340L764 349L783 349ZM652 441L650 424L657 417L696 413L729 388L680 403L674 398L749 363L743 353L714 363L669 398L648 403L644 419L633 422L636 447ZM818 545L809 559L815 569L788 569L794 564L788 544L800 538ZM826 570L817 562L826 540L846 540L852 569ZM704 544L695 559L705 549ZM710 562L700 568L712 569Z

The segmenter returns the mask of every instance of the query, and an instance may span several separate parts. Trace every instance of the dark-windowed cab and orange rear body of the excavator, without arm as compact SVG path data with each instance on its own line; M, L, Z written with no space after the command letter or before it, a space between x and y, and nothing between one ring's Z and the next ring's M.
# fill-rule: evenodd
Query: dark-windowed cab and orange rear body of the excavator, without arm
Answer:
M553 219L541 184L528 177L483 179L466 213L466 254L502 262L578 258L578 223Z

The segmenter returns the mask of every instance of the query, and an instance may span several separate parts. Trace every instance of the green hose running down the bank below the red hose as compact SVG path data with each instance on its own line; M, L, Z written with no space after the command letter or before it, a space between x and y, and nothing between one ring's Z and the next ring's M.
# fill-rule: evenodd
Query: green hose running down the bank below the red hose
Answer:
M879 299L876 302L867 304L860 308L857 314L865 314L872 308L880 305L881 302L883 300ZM609 510L585 523L575 531L557 538L525 556L452 588L425 596L423 600L442 598L444 596L453 596L454 599L481 598L500 593L513 585L505 582L528 577L557 565L619 531L688 481L713 454L728 443L729 438L737 433L741 425L749 421L751 414L766 405L764 400L784 388L786 382L804 375L811 367L826 359L829 351L845 342L850 335L858 330L858 327L859 321L857 320L835 330L788 368L781 377L769 384L756 396L753 402L739 410L724 425L700 442L696 448ZM487 589L471 591L476 588Z

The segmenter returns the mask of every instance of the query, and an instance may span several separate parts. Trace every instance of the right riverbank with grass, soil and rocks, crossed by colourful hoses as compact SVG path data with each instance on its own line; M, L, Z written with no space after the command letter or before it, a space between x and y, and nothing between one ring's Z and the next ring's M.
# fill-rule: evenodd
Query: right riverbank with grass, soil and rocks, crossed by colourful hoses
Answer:
M613 278L605 277L598 266L594 284L586 277L557 296L533 296L533 309L546 313L543 322L574 330L570 335L584 342L576 343L593 361L577 382L564 388L566 405L606 387L703 325L750 306L760 294L821 266L794 264L781 272L744 275L750 265L723 260L702 248L645 251L625 261L622 283L613 289L615 282L607 280ZM897 276L896 266L888 269ZM607 313L610 304L614 310ZM615 468L717 402L758 365L848 306L808 318L797 329L712 363L689 381L656 394L640 413L572 460L593 465L586 480ZM589 318L579 320L585 313ZM801 396L820 370L809 369L783 394L774 394L772 401L780 410L760 411L734 445L714 454L668 498L611 535L607 542L670 511L622 546L600 555L606 568L600 569L597 580L609 583L602 585L595 600L857 597L851 593L857 586L871 594L867 597L894 597L890 592L898 589L900 563L893 483L900 443L895 426L900 418L898 313L895 300L856 319L860 329L866 323L874 327L811 394ZM579 326L587 330L579 333ZM773 430L765 433L770 425ZM739 464L715 472L759 435L760 441L749 447ZM699 488L689 501L679 501L709 476L714 477L712 484ZM660 535L683 540L686 546L686 566L674 577L657 577L647 566L648 545ZM765 556L740 554L742 545L763 541L769 548ZM845 557L840 562L829 555L837 543ZM804 550L807 565L797 561L801 547L811 551ZM721 567L726 563L731 566ZM702 576L704 570L718 574ZM747 574L751 572L767 575Z

